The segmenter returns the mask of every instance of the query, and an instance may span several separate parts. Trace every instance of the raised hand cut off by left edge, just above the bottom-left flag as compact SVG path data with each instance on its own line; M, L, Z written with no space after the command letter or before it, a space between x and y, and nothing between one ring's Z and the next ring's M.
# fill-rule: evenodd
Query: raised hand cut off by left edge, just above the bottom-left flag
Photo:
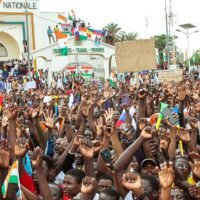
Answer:
M10 160L9 145L7 140L0 141L0 168L8 168Z

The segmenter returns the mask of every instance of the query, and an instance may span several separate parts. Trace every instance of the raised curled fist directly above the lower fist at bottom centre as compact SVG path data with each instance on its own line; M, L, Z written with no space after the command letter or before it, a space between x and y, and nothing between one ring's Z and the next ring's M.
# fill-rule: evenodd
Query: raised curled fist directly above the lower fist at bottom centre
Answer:
M79 146L80 152L86 160L90 160L94 156L94 145L92 142L87 139L83 138L80 140L80 146Z

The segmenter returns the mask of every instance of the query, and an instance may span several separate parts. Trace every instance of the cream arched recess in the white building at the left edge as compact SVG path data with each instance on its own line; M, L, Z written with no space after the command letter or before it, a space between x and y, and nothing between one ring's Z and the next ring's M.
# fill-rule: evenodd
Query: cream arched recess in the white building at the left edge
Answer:
M21 53L20 53L19 44L10 34L6 32L0 32L0 43L5 47L7 51L7 54L6 54L7 56L4 56L4 57L0 56L0 61L20 58Z

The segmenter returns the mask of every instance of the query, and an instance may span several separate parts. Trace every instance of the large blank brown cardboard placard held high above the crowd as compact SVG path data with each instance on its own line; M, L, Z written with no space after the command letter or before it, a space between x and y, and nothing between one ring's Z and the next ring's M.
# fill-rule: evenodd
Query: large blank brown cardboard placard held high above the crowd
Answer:
M118 73L151 70L157 66L152 39L116 42L115 56Z

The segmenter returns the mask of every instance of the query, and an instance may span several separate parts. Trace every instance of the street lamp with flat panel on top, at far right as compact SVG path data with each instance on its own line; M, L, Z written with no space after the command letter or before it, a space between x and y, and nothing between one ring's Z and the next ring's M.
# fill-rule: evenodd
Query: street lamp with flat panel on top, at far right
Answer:
M199 31L193 31L193 32L189 32L189 29L191 28L195 28L196 26L192 25L192 24L182 24L180 25L180 27L186 29L186 32L180 30L180 29L176 29L177 32L183 33L186 38L187 38L187 46L188 46L188 67L190 68L190 35L192 35L193 33L198 33Z

